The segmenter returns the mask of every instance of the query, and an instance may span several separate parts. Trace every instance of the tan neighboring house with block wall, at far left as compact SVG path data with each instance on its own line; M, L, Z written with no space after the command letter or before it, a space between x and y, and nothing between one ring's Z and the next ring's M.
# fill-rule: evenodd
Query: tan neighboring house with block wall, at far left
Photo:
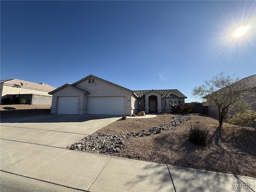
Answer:
M11 103L17 103L20 98L26 99L26 104L51 105L52 96L48 92L56 89L45 83L33 83L19 79L0 81L1 103L3 98L9 98Z

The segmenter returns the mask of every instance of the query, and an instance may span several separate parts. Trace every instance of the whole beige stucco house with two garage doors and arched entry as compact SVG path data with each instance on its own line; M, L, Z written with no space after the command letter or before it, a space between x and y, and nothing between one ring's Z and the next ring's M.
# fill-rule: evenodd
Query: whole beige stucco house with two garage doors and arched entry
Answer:
M187 98L178 90L132 91L94 75L53 90L52 114L131 115L171 112Z

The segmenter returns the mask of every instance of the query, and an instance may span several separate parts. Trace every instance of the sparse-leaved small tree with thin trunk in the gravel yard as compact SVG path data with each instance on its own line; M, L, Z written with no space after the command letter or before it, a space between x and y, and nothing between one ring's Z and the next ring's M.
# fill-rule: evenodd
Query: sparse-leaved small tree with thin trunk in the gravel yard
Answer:
M247 92L245 88L246 80L239 80L234 75L224 76L222 72L211 80L204 80L204 84L195 87L192 94L196 97L206 98L208 102L218 108L219 127L221 128L224 117L229 110L237 106L244 106L243 95Z

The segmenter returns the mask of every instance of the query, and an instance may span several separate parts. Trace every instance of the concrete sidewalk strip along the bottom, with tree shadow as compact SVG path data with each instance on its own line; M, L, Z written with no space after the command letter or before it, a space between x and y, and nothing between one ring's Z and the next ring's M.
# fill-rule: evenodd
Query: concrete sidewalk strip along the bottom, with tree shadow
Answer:
M8 141L6 146L13 149L1 153L1 192L256 191L256 178L22 142Z

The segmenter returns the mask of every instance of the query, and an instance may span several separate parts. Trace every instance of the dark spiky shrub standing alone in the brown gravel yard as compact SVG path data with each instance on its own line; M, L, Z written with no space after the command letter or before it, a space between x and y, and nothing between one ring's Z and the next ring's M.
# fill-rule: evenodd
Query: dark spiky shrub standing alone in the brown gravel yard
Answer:
M206 146L209 137L209 130L202 124L190 124L188 139L196 145Z

